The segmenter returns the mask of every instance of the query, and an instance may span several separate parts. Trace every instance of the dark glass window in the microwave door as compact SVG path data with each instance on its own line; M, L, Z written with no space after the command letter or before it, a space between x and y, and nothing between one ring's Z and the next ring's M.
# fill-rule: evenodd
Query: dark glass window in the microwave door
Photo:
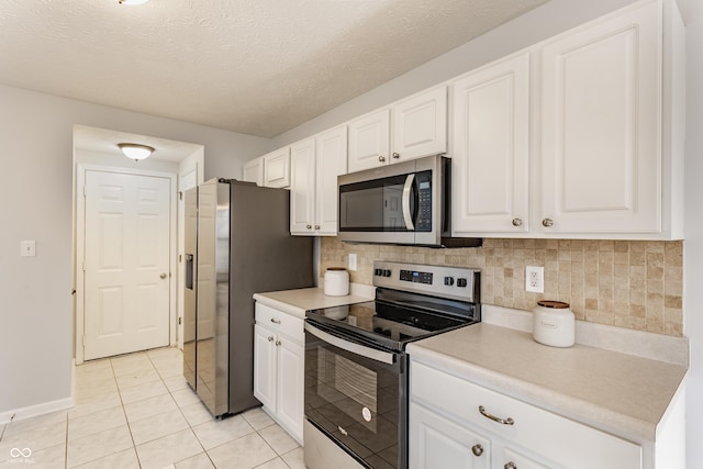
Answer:
M431 172L431 171L426 171ZM339 187L339 230L350 232L409 232L403 203L412 223L417 217L417 188L403 200L408 175Z

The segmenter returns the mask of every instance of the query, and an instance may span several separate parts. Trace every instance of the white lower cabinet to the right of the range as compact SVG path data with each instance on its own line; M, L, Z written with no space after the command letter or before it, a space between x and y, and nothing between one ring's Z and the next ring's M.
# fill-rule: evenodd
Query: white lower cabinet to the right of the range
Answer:
M640 469L643 448L411 360L410 468Z

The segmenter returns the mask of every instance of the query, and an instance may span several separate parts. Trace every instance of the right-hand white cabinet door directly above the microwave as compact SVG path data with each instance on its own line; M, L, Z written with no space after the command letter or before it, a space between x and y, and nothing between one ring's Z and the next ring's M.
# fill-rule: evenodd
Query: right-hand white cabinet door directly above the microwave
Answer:
M447 87L393 105L391 163L447 153Z

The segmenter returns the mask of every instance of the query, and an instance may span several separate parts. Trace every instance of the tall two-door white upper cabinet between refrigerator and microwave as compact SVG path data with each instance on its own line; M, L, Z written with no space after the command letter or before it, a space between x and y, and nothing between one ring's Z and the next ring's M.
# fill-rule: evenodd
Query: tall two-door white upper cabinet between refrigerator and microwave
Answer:
M290 231L337 233L337 176L347 168L346 125L291 145Z

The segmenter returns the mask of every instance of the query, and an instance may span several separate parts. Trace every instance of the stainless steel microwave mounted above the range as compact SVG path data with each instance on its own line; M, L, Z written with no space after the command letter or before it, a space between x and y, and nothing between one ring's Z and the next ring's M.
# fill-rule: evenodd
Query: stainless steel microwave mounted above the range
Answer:
M348 243L477 247L450 237L451 160L427 156L337 178L338 237Z

